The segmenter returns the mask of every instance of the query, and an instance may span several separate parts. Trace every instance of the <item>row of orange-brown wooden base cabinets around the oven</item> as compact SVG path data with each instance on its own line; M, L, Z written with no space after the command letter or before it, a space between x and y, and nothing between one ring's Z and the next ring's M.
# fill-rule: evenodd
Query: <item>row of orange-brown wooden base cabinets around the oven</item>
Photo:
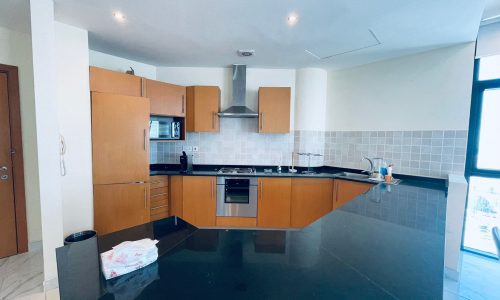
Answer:
M215 184L211 176L169 176L170 215L198 227L303 228L373 186L329 178L261 177L257 218L238 218L216 217Z

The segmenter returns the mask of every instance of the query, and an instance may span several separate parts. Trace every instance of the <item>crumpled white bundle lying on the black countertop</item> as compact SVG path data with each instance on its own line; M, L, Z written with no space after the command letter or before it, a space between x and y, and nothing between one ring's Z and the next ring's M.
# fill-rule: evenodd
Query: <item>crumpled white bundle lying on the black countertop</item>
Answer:
M126 241L101 253L101 269L106 279L143 268L158 259L157 240Z

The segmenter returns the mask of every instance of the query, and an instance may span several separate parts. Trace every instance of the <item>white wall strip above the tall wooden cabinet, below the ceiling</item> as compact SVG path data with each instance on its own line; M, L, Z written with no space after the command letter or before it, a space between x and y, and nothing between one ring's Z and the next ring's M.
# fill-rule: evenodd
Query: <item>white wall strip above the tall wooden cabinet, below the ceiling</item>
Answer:
M138 61L89 50L89 60L91 66L101 67L113 71L125 72L132 67L135 75L156 79L156 67Z

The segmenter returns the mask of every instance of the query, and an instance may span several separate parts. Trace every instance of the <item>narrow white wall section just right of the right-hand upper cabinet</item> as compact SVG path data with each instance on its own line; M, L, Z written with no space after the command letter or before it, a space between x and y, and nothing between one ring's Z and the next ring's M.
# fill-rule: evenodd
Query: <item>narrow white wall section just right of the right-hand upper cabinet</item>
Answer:
M299 69L296 84L295 129L325 131L327 72Z

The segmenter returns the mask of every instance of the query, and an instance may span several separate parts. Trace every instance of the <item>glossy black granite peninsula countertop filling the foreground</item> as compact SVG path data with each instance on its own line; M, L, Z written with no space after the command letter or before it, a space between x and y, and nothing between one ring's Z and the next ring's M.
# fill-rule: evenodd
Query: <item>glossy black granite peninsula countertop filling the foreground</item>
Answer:
M441 299L446 194L405 180L302 230L197 229L170 217L57 249L62 299ZM104 280L99 253L158 239L158 261Z

